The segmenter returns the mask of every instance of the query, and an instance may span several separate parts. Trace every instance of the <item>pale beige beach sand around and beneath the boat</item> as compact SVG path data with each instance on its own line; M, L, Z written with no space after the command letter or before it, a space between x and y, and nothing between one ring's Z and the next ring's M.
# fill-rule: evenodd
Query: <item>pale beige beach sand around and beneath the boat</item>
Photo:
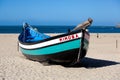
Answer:
M18 34L0 34L0 80L119 80L120 34L96 36L80 66L64 67L26 59L17 51Z

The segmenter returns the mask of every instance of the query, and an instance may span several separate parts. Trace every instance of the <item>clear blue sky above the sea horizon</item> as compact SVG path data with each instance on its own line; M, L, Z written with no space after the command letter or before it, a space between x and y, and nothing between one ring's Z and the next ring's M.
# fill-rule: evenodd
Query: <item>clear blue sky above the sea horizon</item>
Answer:
M93 25L120 23L120 0L0 0L0 25Z

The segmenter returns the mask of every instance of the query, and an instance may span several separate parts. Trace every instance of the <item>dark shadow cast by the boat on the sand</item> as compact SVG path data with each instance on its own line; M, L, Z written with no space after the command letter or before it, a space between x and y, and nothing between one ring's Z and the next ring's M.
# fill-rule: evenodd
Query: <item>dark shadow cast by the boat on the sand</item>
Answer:
M64 67L68 67L68 68L80 68L80 67L100 68L100 67L111 66L111 65L116 65L116 64L120 64L120 62L93 59L93 58L83 58L80 63L77 63L75 65L68 66L68 65L65 65L64 63L62 63L61 65ZM58 64L57 63L50 63L50 65L58 65Z

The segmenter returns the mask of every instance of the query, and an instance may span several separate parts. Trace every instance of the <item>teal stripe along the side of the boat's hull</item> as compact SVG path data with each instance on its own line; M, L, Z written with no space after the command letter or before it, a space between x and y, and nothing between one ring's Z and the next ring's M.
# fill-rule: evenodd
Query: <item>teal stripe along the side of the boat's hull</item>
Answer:
M66 42L66 43L61 43L58 45L53 45L41 49L35 49L35 50L27 50L21 48L21 51L23 54L28 54L28 55L46 55L46 54L54 54L62 51L67 51L70 49L76 49L79 48L81 44L81 39L77 39L74 41Z

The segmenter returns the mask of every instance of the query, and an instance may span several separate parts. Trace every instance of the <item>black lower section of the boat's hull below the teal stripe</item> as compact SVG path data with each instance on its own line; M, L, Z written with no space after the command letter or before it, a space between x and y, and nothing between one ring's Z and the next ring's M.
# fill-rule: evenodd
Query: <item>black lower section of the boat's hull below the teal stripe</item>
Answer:
M45 61L54 61L54 62L72 62L76 59L79 49L67 50L63 52L58 52L54 54L47 55L29 55L24 54L28 59L45 62Z

